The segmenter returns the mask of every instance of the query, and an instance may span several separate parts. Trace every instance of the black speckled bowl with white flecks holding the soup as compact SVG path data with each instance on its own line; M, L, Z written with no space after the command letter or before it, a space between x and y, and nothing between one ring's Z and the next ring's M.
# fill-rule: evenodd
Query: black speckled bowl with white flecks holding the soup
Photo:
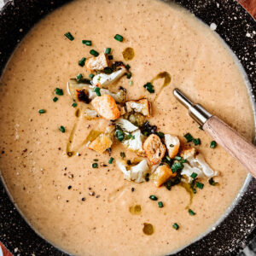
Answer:
M31 27L67 0L15 0L0 13L0 70ZM247 73L248 90L256 96L256 23L235 0L177 0L190 12L216 30L236 54ZM251 84L251 85L249 85ZM254 105L255 106L255 105ZM0 155L1 157L1 155ZM0 241L15 255L67 255L38 236L15 209L0 182ZM247 182L237 200L217 224L177 255L236 255L237 249L255 233L256 181ZM254 230L254 231L253 231ZM103 254L103 253L102 253Z

